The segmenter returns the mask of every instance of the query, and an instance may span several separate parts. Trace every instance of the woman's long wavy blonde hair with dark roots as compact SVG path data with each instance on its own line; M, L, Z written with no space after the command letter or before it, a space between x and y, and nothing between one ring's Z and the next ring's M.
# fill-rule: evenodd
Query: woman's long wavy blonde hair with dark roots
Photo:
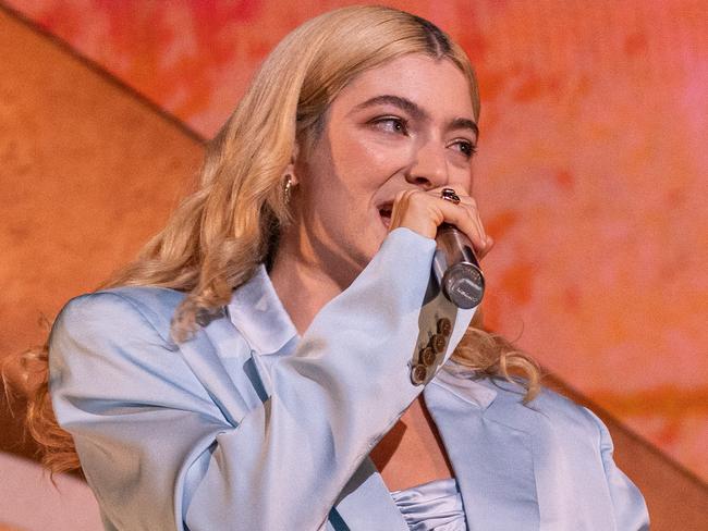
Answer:
M184 341L200 316L228 304L260 262L272 260L280 229L290 222L283 172L296 140L304 149L321 133L324 116L357 74L404 54L454 63L466 76L475 119L479 94L469 60L438 27L382 7L354 7L313 18L266 59L229 121L209 143L200 185L167 226L108 286L163 286L186 293L172 321ZM48 349L28 353L42 381L29 397L27 425L52 472L81 467L71 435L57 423L48 395ZM481 313L453 354L479 375L524 376L525 399L539 390L539 369L504 338L486 332Z

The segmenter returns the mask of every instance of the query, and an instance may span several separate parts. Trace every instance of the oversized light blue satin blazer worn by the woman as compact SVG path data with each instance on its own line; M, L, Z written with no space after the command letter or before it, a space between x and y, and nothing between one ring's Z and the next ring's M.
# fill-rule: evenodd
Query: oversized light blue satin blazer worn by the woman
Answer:
M448 360L473 311L428 289L434 252L393 231L302 337L263 267L179 345L175 291L70 301L50 338L52 405L106 529L404 531L368 454L422 392L469 530L648 529L595 415L548 391L524 406ZM416 385L441 317L452 334Z

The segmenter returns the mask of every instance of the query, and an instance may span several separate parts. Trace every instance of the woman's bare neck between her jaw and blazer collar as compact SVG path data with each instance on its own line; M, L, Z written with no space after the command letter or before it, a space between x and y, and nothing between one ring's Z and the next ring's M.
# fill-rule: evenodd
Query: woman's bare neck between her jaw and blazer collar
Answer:
M343 285L329 269L307 237L294 230L281 235L269 276L300 335L319 310L349 285Z

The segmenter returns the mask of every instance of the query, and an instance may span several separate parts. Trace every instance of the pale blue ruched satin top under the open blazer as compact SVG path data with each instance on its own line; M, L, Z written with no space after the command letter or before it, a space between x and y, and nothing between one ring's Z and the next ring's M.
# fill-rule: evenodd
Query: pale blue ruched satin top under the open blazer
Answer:
M454 478L437 480L391 497L412 531L466 531L462 495Z

